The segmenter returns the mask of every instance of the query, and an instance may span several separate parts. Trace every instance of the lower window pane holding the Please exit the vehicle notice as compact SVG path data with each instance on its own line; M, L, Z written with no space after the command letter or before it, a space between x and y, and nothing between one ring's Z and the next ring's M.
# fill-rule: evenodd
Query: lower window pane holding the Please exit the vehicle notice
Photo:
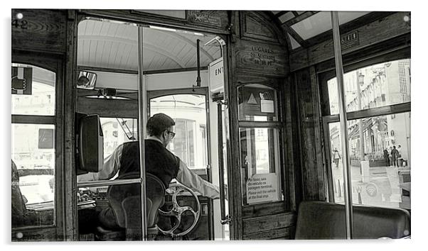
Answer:
M282 200L277 128L240 128L244 204Z

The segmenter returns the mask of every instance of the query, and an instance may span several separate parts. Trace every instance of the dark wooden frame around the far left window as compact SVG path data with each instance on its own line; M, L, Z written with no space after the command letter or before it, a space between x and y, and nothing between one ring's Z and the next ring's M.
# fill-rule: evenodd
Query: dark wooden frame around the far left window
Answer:
M54 199L54 216L53 225L28 226L12 229L12 240L16 238L16 233L23 233L23 240L43 241L43 240L63 240L67 233L65 232L65 218L67 213L64 208L65 204L65 128L63 123L64 113L64 62L63 57L46 52L31 52L26 50L12 50L12 62L23 63L48 69L55 72L55 114L53 116L21 116L12 115L11 123L47 123L55 125L55 199ZM60 238L58 238L60 237Z

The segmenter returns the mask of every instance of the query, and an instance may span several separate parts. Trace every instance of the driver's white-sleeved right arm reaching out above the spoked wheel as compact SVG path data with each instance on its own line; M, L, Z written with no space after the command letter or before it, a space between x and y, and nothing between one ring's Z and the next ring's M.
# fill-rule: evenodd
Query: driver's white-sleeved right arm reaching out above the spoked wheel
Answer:
M218 186L205 181L199 177L198 174L192 172L191 169L188 169L186 163L184 163L182 160L180 160L180 167L178 169L176 179L181 184L188 186L188 188L194 191L198 191L203 196L209 197L211 199L220 198L220 189Z

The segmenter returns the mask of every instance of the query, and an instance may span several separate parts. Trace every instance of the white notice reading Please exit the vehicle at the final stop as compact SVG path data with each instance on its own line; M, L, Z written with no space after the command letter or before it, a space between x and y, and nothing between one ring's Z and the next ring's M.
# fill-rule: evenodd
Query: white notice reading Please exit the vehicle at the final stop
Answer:
M247 203L278 200L277 174L254 174L247 180Z

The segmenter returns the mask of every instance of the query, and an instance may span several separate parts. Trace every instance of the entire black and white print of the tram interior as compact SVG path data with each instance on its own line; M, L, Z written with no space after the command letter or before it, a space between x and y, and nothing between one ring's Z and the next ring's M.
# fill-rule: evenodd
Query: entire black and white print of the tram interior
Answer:
M6 245L423 232L414 6L89 5L4 17Z

